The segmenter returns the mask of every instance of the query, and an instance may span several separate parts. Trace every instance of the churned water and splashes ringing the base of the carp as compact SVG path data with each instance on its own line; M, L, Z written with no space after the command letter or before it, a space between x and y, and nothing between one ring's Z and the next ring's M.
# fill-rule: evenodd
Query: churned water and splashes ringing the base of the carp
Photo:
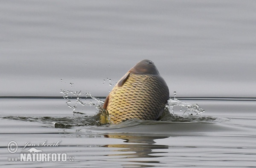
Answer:
M204 109L201 109L201 107L198 106L198 104L189 104L185 103L183 101L180 101L176 98L176 92L175 97L172 99L170 98L168 100L168 105L166 106L166 110L163 112L163 115L161 115L160 119L158 121L143 121L138 119L131 119L126 120L118 125L115 124L111 125L109 124L110 118L108 115L108 111L105 109L102 109L104 101L100 100L100 98L94 97L90 92L82 93L81 91L71 91L71 90L61 90L61 93L63 94L63 98L66 99L66 104L68 107L73 109L73 113L78 113L78 115L73 116L64 116L64 117L52 117L52 116L5 116L0 118L5 119L12 119L12 120L24 120L24 121L32 121L32 122L39 122L49 127L54 128L62 128L62 129L72 129L74 127L79 127L79 129L87 127L87 126L102 126L102 128L108 128L112 127L115 131L116 128L123 127L125 128L125 131L127 128L130 128L131 126L134 126L134 123L139 125L152 125L154 124L154 127L156 124L158 124L161 128L161 124L173 123L179 124L179 123L198 123L200 126L202 123L215 123L215 122L223 122L227 119L221 119L221 118L213 118L209 116L200 116L202 112L204 112ZM86 99L83 101L81 96L86 97ZM75 98L72 98L75 97ZM84 115L84 113L76 112L77 106L87 106L89 108L93 107L96 110L96 113L94 115L88 116ZM181 111L185 111L183 115L177 115L175 114L175 110L173 107L180 106L182 109ZM172 112L170 112L172 110ZM179 112L179 111L177 111ZM197 115L191 115L191 112L195 112ZM187 114L187 115L186 115ZM164 122L163 122L164 121ZM114 127L113 127L114 126ZM90 127L91 128L91 127ZM146 131L146 130L145 130Z

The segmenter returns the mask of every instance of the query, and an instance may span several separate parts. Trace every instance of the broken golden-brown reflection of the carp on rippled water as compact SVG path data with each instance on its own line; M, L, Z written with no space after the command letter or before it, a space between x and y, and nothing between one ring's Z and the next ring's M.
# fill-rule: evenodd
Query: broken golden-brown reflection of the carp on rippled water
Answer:
M154 151L154 149L168 149L167 145L156 145L154 140L156 139L164 139L167 137L153 137L153 136L141 136L141 135L127 135L127 134L107 134L104 135L108 138L117 138L125 140L124 142L127 144L110 144L105 145L103 147L108 148L121 148L113 151L121 151L123 153L120 154L110 154L108 156L126 156L121 157L122 159L129 159L128 162L136 162L140 164L125 164L125 166L136 166L136 167L150 167L155 166L154 164L159 164L160 161L146 158L157 158L163 157L162 151ZM132 153L131 153L132 152ZM161 155L163 154L163 155ZM133 158L141 158L141 160L131 160ZM141 164L143 163L143 164ZM148 165L153 164L153 165Z

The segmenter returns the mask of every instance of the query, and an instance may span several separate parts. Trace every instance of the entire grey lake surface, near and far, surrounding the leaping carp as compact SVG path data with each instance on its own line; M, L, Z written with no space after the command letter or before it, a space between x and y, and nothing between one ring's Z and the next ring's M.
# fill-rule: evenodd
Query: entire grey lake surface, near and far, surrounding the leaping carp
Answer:
M0 166L256 167L255 23L249 0L1 1ZM99 125L86 93L104 101L143 59L205 112ZM8 161L31 147L70 162Z

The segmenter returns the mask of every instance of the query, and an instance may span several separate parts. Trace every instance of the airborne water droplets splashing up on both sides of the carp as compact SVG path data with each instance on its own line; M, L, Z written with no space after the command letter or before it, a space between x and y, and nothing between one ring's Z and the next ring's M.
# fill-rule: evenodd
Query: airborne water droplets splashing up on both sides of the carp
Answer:
M103 79L103 84L105 82L109 82L109 86L112 86L114 84L111 84L111 78L105 78ZM73 88L72 82L70 82L70 86ZM108 90L109 92L111 90ZM101 114L101 116L105 116L105 120L109 120L108 112L102 108L104 101L100 100L99 98L94 97L90 92L82 93L81 91L72 91L72 90L61 90L60 91L63 95L64 99L66 100L66 105L73 109L73 113L78 113L84 115L83 112L78 111L78 106L87 106L89 108L95 108L96 115ZM200 118L200 114L204 112L204 109L202 109L198 104L189 104L183 101L180 101L176 98L177 92L174 92L174 98L170 98L166 104L166 110L163 113L163 115L160 117L160 121L175 121L175 122L184 122L184 121L195 121ZM74 99L75 97L75 99ZM85 99L83 100L83 98ZM183 112L183 115L180 115L174 109L174 107L180 107L180 112ZM84 110L84 109L83 109ZM176 113L176 114L175 114ZM193 115L195 114L195 115ZM99 118L99 120L102 120L102 118ZM204 120L204 119L203 119ZM104 123L104 122L103 122Z

